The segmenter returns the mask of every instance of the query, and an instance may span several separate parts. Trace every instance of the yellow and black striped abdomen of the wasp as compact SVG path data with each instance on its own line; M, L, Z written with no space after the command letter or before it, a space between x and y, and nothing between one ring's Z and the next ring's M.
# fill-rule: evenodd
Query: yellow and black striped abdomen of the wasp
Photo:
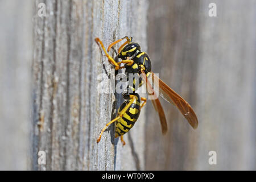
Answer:
M118 113L127 104L129 104L129 102L130 100L123 102L123 104L119 107ZM139 118L139 113L141 113L141 98L137 95L133 104L131 104L129 109L126 110L125 114L123 114L122 117L115 122L115 137L119 137L127 133Z

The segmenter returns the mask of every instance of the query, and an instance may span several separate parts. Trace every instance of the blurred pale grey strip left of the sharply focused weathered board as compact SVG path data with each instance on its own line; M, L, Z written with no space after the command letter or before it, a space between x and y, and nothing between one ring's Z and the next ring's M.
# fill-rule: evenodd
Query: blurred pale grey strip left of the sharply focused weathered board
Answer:
M31 1L0 1L0 170L26 170Z

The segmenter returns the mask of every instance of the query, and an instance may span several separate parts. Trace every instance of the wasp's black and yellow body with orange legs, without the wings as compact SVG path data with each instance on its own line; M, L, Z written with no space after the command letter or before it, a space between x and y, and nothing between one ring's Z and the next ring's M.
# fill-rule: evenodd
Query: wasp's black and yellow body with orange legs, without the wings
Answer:
M121 61L116 62L108 52L110 51L110 48L123 39L126 39L126 42L118 48L117 55L117 58L121 59ZM126 101L119 107L118 116L105 125L97 139L97 143L100 142L103 132L109 125L115 122L115 137L121 136L121 142L125 145L123 134L127 133L134 126L139 118L141 108L146 104L146 98L139 97L139 94L135 93L135 91L143 84L142 78L139 77L142 71L146 73L147 77L150 75L151 61L145 52L141 52L141 46L139 46L138 43L132 42L132 38L129 38L128 36L110 44L108 52L106 52L106 49L99 38L96 38L95 41L102 47L110 63L114 64L115 70L125 68L127 77L129 77L129 73L135 74L132 82L127 85L127 93L123 93L123 98ZM120 66L120 64L125 65Z

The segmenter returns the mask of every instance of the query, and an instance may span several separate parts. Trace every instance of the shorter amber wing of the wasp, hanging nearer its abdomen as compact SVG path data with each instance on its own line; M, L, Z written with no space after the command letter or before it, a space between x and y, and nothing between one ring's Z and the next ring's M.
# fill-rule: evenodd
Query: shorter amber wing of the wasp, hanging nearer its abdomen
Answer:
M160 118L160 124L161 124L161 128L162 128L162 134L166 134L167 133L167 122L166 122L166 115L164 114L164 110L163 107L159 101L159 99L156 97L156 94L154 92L154 90L152 89L152 86L150 84L150 81L147 80L147 76L144 72L142 72L142 77L144 82L146 82L146 88L147 88L147 92L149 96L154 97L152 101L152 104L155 108L155 110L158 112L159 118Z

